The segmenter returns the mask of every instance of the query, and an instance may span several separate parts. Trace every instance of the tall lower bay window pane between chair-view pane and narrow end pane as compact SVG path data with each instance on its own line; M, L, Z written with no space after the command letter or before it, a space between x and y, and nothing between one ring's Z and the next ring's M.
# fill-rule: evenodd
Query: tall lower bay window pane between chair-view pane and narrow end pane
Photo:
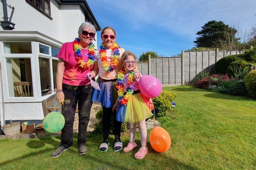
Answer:
M41 81L41 94L47 95L50 90L50 68L49 59L39 57L39 71Z

